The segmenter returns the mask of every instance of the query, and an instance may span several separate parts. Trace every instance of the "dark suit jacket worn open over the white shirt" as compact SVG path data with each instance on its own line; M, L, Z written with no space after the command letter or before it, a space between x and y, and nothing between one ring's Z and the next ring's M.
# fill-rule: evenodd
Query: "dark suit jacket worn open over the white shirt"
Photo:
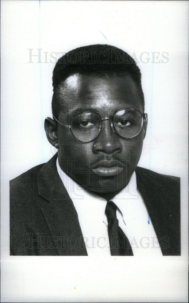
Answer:
M10 181L10 255L87 255L56 158ZM180 255L180 179L140 167L136 177L162 254Z

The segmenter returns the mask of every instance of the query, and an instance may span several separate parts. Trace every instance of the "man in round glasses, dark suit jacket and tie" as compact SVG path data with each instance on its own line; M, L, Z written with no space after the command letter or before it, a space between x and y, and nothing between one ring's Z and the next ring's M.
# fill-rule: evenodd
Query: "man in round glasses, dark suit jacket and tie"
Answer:
M141 72L110 45L53 71L58 153L10 182L11 255L180 255L180 181L137 167L147 129Z

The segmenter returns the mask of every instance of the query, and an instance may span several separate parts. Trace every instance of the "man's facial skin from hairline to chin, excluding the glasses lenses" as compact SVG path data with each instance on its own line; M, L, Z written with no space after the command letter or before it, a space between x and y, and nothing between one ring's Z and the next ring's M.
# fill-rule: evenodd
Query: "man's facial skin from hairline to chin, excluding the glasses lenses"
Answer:
M98 77L71 75L59 86L62 103L59 116L63 125L83 112L98 113L101 118L113 116L123 108L143 112L137 87L125 76ZM141 156L146 124L134 138L125 139L113 131L111 119L103 120L101 132L91 142L76 139L69 128L58 124L58 161L61 168L85 188L98 193L123 189Z

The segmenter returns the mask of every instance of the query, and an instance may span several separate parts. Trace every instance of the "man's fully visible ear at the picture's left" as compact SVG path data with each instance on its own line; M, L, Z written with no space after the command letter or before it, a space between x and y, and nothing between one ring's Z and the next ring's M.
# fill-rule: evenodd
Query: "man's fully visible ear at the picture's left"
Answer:
M44 126L48 142L55 146L55 148L58 148L58 129L55 120L47 117Z

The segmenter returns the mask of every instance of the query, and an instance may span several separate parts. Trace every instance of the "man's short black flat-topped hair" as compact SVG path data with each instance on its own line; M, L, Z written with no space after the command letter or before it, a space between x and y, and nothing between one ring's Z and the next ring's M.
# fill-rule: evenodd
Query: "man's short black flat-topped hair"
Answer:
M58 59L52 76L52 114L56 118L58 118L61 108L60 102L56 98L58 85L75 73L98 77L130 75L137 85L144 111L141 71L134 59L115 46L94 44L75 48Z

